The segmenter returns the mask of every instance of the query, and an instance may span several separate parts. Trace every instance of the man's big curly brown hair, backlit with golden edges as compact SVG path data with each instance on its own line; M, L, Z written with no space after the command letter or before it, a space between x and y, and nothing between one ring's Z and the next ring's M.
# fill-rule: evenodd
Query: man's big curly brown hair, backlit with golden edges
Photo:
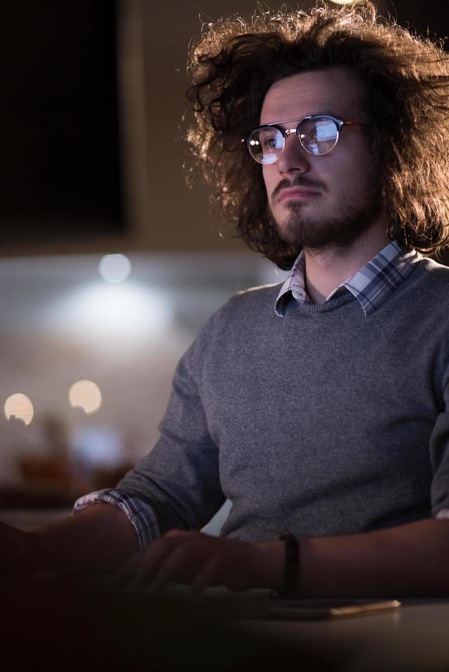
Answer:
M253 249L288 269L300 250L277 234L262 170L244 138L282 77L336 65L366 84L389 236L423 254L449 239L449 55L439 42L380 19L369 0L310 12L262 10L209 24L192 43L187 131L212 200Z

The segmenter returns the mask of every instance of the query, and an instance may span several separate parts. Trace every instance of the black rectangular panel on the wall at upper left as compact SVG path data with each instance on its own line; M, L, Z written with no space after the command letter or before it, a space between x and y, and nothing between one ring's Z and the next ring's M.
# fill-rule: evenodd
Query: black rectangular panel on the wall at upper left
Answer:
M2 245L124 230L114 3L19 0L2 23Z

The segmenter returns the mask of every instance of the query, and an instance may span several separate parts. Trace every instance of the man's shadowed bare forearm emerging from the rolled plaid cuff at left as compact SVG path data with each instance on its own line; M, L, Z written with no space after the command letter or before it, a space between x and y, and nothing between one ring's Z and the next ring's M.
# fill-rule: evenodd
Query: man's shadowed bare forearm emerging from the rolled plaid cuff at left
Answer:
M110 504L92 505L27 535L32 541L34 571L108 573L139 551L133 525L124 512Z

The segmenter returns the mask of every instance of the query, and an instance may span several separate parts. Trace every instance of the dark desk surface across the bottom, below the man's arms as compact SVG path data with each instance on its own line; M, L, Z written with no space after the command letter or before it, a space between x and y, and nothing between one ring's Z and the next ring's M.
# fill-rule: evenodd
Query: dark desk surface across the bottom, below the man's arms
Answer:
M449 600L343 620L278 620L268 592L189 597L41 579L0 587L8 672L448 672ZM319 601L321 603L321 601Z

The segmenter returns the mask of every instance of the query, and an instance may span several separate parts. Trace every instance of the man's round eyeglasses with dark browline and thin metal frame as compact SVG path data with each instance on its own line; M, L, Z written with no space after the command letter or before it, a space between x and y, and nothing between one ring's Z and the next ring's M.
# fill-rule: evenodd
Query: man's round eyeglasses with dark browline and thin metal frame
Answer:
M284 123L299 121L296 128L282 128ZM292 133L298 136L301 147L314 156L324 156L334 149L343 126L366 126L358 121L345 121L330 115L314 115L303 119L287 119L279 123L266 123L255 128L242 140L257 163L275 163L286 146L286 138Z

